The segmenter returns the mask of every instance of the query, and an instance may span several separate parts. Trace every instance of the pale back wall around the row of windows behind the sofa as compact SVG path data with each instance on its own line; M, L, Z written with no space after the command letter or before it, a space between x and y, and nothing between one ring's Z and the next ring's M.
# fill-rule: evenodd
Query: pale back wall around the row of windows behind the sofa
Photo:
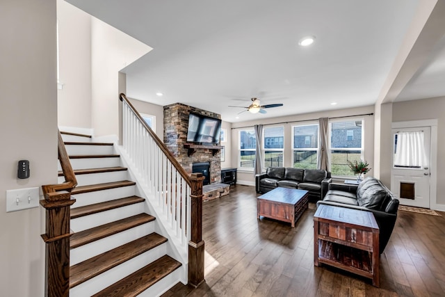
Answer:
M373 106L364 106L354 109L338 109L335 111L321 111L317 113L305 113L302 115L292 115L280 118L268 118L261 119L259 115L259 120L250 122L236 122L232 124L232 166L236 167L238 164L238 127L253 127L254 125L261 122L262 125L273 124L276 122L286 122L285 124L280 124L277 126L284 126L284 167L293 167L292 161L292 139L291 130L294 125L304 125L307 122L293 122L299 120L312 120L318 118L334 118L343 117L348 115L359 115L366 113L373 113ZM374 117L372 115L364 115L364 159L369 162L371 168L374 164ZM346 118L345 120L348 120ZM373 175L373 170L371 170L369 175ZM254 174L253 172L243 172L242 170L237 171L237 182L241 184L254 184Z

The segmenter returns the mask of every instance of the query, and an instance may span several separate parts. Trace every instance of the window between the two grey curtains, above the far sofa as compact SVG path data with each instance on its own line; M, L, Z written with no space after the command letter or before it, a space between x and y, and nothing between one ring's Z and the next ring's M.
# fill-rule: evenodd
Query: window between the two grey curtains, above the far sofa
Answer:
M294 168L317 168L318 124L292 127Z

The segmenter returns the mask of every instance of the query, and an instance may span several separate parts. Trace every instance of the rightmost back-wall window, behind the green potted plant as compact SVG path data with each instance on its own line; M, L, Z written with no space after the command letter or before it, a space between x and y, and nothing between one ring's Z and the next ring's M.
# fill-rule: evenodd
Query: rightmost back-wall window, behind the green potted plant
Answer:
M330 122L331 171L334 176L353 176L348 161L363 155L363 120Z

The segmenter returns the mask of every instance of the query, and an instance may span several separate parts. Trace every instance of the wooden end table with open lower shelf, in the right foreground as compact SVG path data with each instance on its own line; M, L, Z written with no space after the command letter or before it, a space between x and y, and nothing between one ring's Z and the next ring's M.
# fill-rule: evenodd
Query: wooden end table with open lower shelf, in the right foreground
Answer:
M371 278L379 287L379 232L369 211L321 204L314 214L314 265Z

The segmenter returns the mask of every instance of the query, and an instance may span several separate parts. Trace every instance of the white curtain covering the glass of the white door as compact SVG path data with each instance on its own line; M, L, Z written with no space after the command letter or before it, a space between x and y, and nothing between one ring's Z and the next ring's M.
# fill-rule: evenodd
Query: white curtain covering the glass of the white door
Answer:
M396 134L394 166L421 167L425 163L423 131L398 132Z

